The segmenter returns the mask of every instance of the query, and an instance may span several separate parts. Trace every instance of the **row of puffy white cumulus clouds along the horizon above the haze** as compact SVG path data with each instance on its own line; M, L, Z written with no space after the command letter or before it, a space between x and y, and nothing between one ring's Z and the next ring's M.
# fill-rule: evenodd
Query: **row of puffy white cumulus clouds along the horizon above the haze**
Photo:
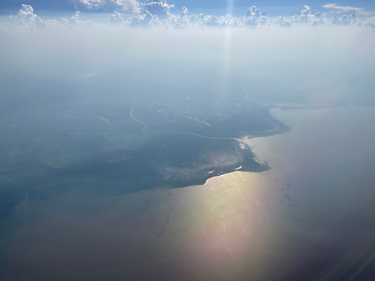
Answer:
M340 12L351 12L340 15L333 11L330 13L320 13L311 10L309 6L303 5L303 10L299 15L285 16L281 14L276 18L270 19L265 11L260 11L257 7L250 7L243 16L234 17L231 13L222 16L205 15L203 13L189 14L187 7L182 7L180 12L173 14L171 9L173 4L168 4L166 0L148 0L145 3L138 3L135 0L80 0L87 9L101 9L102 7L114 7L115 10L109 15L107 23L116 25L128 25L131 27L160 27L160 28L271 28L271 27L293 27L296 25L359 25L362 23L357 20L355 12L362 12L362 8L350 6L338 6L336 4L323 5L326 9L332 9ZM124 11L127 11L124 13ZM128 16L129 11L133 16ZM9 16L7 25L19 26L25 28L37 28L51 25L93 25L93 20L83 21L79 18L80 12L76 12L69 19L61 18L44 21L30 5L23 4L16 15ZM101 24L105 24L101 22ZM374 28L372 19L366 20L365 27Z

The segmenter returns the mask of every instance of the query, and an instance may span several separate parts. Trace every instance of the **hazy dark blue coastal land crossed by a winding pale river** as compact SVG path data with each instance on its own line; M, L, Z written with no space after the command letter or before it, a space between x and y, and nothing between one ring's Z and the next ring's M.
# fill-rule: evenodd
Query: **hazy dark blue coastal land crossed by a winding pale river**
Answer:
M191 94L165 105L139 98L121 100L124 106L96 99L55 105L48 115L52 126L42 136L35 125L18 122L17 130L27 133L4 163L3 174L24 178L20 185L36 199L69 191L61 184L66 181L89 184L98 194L202 185L234 170L267 170L245 140L289 129L247 95L235 105L230 96L213 103ZM48 107L41 110L46 114ZM31 178L23 176L29 173Z

